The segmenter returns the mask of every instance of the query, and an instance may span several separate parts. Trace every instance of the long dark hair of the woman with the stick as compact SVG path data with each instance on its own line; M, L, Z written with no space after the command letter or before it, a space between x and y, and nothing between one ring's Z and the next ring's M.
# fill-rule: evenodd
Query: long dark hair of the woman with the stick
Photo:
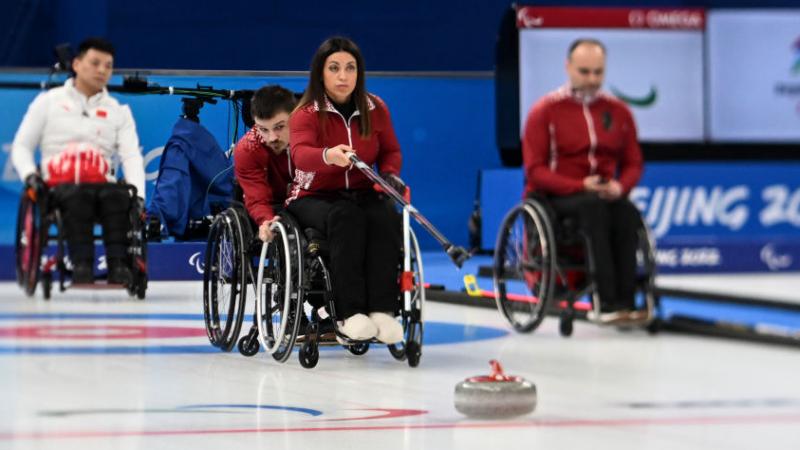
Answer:
M308 76L308 87L306 88L303 98L300 99L300 106L308 105L312 102L317 102L320 105L317 117L319 118L320 127L322 132L324 129L325 119L325 82L322 72L325 70L325 60L328 56L337 52L347 52L353 55L356 60L356 87L353 89L353 100L355 101L356 108L361 112L358 117L359 134L367 137L372 133L372 124L370 123L369 106L367 102L367 89L365 87L365 71L364 71L364 57L361 56L361 50L355 42L348 38L341 36L334 36L328 38L322 45L319 46L314 57L311 58L311 73Z

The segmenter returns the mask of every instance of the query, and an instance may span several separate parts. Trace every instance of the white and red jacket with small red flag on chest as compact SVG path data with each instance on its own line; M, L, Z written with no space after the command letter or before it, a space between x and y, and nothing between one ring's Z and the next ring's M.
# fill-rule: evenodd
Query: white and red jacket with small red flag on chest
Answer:
M45 180L50 178L48 169L62 166L50 164L62 152L94 149L105 160L105 164L95 166L106 169L106 180L115 181L108 168L114 167L118 158L126 181L136 186L138 195L144 198L144 164L133 115L127 105L121 105L105 89L87 98L68 79L64 86L39 94L28 106L11 146L11 160L23 180L36 171L37 147L42 152Z

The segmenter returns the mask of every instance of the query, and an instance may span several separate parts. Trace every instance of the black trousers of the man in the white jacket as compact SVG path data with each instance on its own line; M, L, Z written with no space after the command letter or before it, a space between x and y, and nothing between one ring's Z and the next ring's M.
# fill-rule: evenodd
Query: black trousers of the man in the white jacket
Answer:
M69 257L94 259L94 224L103 229L106 258L128 256L131 198L128 188L115 183L62 184L53 188L61 210Z

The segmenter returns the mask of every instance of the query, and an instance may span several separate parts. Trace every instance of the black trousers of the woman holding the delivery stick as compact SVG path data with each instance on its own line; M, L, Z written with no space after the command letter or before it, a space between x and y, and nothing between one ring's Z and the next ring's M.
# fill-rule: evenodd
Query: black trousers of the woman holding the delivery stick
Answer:
M302 227L327 237L340 319L398 311L402 224L389 199L374 191L341 192L302 197L287 209Z

